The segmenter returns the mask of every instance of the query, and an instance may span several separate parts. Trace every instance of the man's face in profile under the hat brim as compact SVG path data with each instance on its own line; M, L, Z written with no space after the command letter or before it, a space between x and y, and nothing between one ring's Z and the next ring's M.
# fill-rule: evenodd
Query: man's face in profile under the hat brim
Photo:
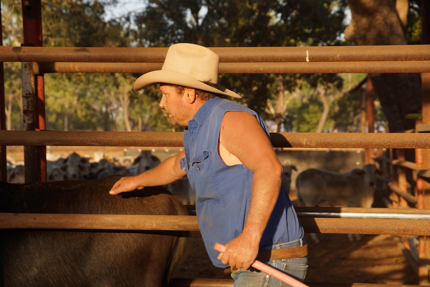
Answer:
M163 94L160 100L160 108L164 109L169 115L170 123L176 126L186 127L190 120L186 97L178 93L175 86L162 84L160 91Z

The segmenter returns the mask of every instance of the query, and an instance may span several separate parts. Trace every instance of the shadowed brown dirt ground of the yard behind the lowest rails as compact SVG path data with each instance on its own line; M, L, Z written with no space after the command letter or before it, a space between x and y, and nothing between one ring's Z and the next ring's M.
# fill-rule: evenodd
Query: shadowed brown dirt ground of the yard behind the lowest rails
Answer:
M294 201L294 191L291 199ZM402 238L394 235L365 235L349 242L346 234L319 234L319 244L305 235L309 269L305 283L368 283L418 285L418 276ZM215 268L198 233L189 239L192 252L176 278L231 279Z

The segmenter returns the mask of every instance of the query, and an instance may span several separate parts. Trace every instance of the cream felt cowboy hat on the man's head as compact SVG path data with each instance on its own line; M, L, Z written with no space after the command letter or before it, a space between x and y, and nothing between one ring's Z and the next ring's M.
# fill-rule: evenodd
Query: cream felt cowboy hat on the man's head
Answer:
M167 50L161 70L148 72L134 82L134 89L166 83L214 92L240 98L238 94L218 85L218 55L200 45L190 43L173 44ZM209 82L216 87L205 84Z

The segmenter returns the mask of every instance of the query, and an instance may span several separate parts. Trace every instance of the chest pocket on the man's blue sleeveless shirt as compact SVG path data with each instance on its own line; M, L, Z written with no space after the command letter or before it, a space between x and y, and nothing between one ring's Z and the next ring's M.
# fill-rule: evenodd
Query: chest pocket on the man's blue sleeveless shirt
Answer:
M201 155L190 160L188 176L191 187L196 191L197 201L218 198L218 185L211 152L203 151Z

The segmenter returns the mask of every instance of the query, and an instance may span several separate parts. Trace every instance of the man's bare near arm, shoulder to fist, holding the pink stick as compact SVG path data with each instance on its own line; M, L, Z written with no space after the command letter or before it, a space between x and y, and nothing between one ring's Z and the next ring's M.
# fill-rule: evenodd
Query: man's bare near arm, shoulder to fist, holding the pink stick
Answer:
M218 259L223 264L248 269L258 254L261 236L276 204L282 165L255 116L227 112L221 123L220 144L254 172L249 213L242 234L228 242Z

